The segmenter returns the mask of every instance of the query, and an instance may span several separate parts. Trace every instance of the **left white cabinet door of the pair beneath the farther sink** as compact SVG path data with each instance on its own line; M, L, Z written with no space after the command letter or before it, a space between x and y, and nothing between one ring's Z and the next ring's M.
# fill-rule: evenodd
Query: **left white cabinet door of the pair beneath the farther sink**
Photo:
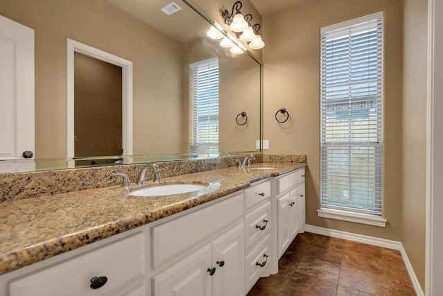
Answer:
M291 243L291 229L289 226L289 216L291 215L289 202L291 195L286 193L277 199L277 216L278 216L278 258L282 256L284 251Z

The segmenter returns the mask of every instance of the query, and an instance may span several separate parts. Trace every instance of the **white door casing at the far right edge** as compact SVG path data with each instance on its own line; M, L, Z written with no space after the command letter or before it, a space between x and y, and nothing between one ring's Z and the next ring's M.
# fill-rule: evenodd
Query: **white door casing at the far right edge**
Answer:
M425 293L440 295L443 290L443 2L428 1L428 95L426 128L426 258Z

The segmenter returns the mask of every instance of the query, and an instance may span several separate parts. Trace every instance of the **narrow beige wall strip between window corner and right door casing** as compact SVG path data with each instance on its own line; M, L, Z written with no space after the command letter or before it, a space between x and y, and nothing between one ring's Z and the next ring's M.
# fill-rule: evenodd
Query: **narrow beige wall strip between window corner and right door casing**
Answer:
M427 1L404 1L403 243L424 287L426 215Z

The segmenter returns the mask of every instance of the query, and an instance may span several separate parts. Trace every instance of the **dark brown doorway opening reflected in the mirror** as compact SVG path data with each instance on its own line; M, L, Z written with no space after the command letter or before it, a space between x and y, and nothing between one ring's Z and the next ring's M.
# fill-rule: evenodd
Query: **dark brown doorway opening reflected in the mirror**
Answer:
M74 53L74 157L122 154L122 68Z

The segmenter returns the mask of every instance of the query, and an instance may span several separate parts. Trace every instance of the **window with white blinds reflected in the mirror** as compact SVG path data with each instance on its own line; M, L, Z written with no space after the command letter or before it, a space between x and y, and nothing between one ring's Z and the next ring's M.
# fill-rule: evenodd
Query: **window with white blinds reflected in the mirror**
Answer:
M219 62L211 58L190 67L190 143L192 153L219 153Z

